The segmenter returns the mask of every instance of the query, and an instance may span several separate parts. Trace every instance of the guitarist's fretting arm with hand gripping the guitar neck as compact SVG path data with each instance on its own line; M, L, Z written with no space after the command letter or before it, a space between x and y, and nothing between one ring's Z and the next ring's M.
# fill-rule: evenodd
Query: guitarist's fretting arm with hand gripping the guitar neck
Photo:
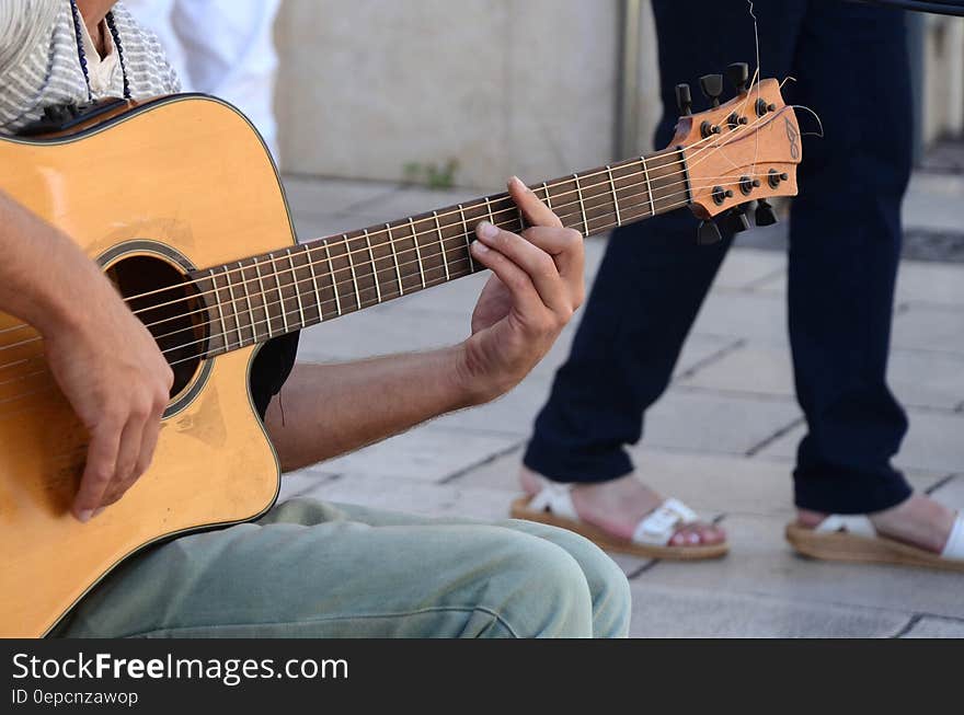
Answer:
M563 229L518 180L509 193L535 228L525 238L490 237L480 226L472 254L494 275L472 316L472 336L429 353L297 365L265 420L284 471L493 400L546 355L583 300L582 237Z

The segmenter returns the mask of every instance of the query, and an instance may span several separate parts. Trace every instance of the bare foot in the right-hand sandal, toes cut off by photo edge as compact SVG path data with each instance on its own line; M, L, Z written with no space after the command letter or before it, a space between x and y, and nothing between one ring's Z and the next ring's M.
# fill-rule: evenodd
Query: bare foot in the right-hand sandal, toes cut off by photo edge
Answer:
M827 517L806 509L797 510L796 515L800 524L811 529ZM867 516L882 535L939 554L951 535L956 515L926 494L913 494L891 509Z

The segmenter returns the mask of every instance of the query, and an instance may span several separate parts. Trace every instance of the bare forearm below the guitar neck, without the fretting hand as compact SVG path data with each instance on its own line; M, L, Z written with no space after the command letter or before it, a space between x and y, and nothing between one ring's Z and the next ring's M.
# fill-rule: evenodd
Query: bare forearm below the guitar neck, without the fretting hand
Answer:
M295 366L266 425L286 472L349 452L483 402L460 370L461 348L344 365Z

